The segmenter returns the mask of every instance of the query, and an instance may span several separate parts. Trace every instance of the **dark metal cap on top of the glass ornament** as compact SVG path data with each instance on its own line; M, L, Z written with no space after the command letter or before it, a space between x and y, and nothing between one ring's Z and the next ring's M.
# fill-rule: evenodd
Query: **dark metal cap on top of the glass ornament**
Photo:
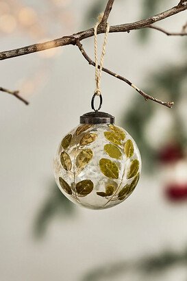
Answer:
M114 124L115 118L105 112L88 112L80 117L81 124Z

